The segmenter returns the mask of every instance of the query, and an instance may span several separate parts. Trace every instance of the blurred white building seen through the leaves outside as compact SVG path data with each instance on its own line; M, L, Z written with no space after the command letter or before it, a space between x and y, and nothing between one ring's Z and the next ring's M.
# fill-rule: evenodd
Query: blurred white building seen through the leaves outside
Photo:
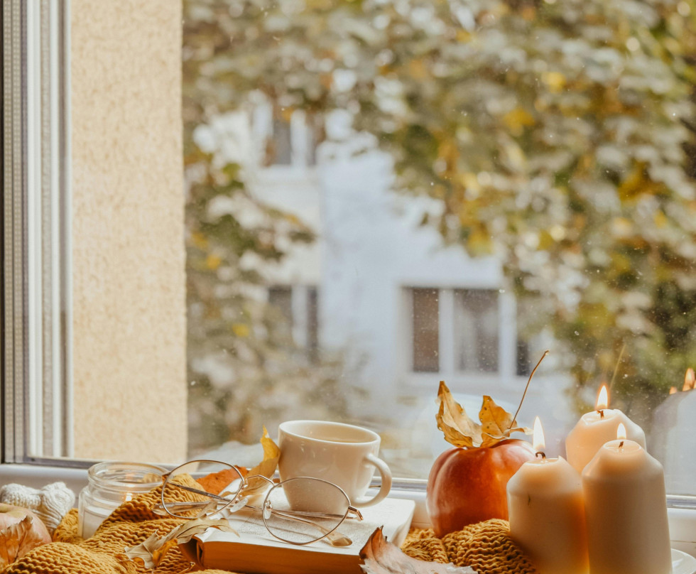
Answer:
M371 136L353 133L348 118L330 118L317 147L301 112L287 122L273 115L261 105L241 130L254 141L249 161L263 163L271 150L270 165L249 169L247 181L263 202L308 224L317 241L268 267L268 299L298 345L342 354L346 383L364 397L352 414L396 426L402 437L406 428L410 447L428 457L447 447L435 425L440 380L474 418L484 394L513 411L545 347L518 335L499 261L472 259L421 225L438 202L395 193L389 156ZM563 452L575 422L566 379L543 374L553 364L552 354L519 417L529 426L542 418L550 454Z

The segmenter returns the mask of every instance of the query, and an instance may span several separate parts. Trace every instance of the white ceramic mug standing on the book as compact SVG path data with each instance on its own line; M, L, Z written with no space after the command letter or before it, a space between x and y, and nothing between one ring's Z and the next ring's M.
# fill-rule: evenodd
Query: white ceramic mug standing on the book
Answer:
M341 487L354 507L369 507L391 489L391 470L377 457L380 438L372 430L330 421L286 421L278 427L281 480L321 478ZM374 470L382 484L374 497L364 497Z

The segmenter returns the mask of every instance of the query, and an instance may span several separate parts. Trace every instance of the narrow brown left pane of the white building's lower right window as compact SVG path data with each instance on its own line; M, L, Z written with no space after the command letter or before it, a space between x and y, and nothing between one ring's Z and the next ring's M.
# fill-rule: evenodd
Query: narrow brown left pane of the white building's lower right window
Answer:
M440 370L440 293L437 289L412 289L413 370Z

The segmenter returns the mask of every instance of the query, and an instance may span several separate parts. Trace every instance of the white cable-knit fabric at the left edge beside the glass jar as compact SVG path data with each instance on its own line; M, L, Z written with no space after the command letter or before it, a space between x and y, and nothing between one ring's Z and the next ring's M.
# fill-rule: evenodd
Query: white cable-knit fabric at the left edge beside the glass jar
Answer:
M0 502L33 511L53 534L62 517L75 506L75 492L65 486L65 482L53 482L41 489L5 484L0 487Z

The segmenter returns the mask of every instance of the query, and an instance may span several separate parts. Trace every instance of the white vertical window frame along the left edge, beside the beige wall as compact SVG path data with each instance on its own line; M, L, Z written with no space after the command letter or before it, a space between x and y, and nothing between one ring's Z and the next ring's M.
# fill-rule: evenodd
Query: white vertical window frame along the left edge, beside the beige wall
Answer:
M3 462L72 456L67 0L9 0Z

